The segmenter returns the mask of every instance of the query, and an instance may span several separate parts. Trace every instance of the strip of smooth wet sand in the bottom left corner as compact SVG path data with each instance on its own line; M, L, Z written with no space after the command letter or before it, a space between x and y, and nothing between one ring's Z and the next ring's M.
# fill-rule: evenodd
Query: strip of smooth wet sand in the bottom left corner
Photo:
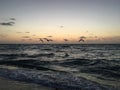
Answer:
M0 90L55 90L42 85L13 81L0 77Z

